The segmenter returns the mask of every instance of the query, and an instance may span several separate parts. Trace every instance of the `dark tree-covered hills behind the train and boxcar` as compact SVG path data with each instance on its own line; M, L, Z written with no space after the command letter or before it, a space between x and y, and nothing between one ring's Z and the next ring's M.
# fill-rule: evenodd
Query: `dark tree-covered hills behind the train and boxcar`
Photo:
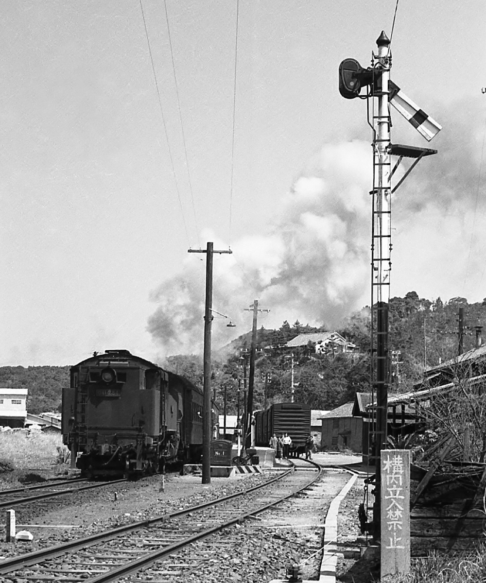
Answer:
M470 350L475 346L475 326L486 322L486 298L473 304L463 297L443 302L440 297L420 298L415 291L391 298L389 349L390 354L398 353L398 364L391 366L393 391L409 391L420 380L424 366L434 366L457 355L460 307L464 308L464 350ZM326 326L315 328L299 321L292 325L284 321L276 330L258 330L254 409L291 398L291 352L282 345L299 334L326 330ZM356 392L369 391L369 307L345 319L336 332L356 345L353 354L319 355L312 343L293 349L295 401L309 403L313 409L333 409L352 401ZM251 331L212 354L211 386L221 411L226 387L228 414L236 414L239 388L243 401L243 363L248 375L250 345ZM159 364L202 386L201 356L179 354ZM28 389L30 413L60 411L62 387L68 386L69 366L0 367L0 387Z

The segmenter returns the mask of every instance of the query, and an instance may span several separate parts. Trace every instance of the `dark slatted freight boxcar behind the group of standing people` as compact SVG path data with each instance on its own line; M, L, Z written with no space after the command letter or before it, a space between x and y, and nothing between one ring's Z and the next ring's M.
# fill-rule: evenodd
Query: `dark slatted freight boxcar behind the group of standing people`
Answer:
M256 411L255 445L268 447L270 437L288 433L292 440L291 454L305 452L305 440L310 434L310 405L306 403L276 403L269 409Z

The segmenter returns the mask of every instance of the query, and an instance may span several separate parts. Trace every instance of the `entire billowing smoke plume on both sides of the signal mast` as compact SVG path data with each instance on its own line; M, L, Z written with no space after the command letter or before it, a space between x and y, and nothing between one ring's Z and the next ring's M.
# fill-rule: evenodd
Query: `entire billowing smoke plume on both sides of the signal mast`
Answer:
M439 153L422 160L393 195L391 295L416 289L430 298L467 297L459 285L467 280L468 293L482 298L483 254L471 254L469 241L473 225L475 233L486 228L484 205L475 205L485 186L486 173L479 171L484 119L471 103L442 112L434 108L434 114L444 127L433 144ZM214 346L249 331L251 314L242 308L254 298L271 309L258 317L258 325L267 328L284 319L331 328L369 304L371 188L369 142L326 144L309 160L282 197L280 216L268 233L244 237L233 245L233 255L215 259L213 305L239 327L235 332L215 319ZM212 233L203 240L228 248ZM464 273L466 264L476 276L461 275L459 282L452 273ZM153 293L158 307L148 329L167 353L200 352L204 289L201 263L188 258L181 273Z

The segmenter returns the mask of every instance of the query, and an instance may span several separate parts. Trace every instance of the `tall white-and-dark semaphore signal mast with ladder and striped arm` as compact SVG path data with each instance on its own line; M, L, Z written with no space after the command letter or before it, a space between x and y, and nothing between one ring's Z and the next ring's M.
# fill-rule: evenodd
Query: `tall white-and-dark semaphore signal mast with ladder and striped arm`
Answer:
M344 59L339 66L339 91L345 99L361 97L368 103L368 123L373 128L373 189L372 195L372 244L371 244L371 347L372 347L372 395L373 408L370 420L369 445L373 450L368 459L375 462L375 503L373 519L362 519L362 532L370 532L380 540L380 456L386 448L388 387L390 384L389 353L389 303L391 272L391 195L403 183L412 169L424 156L436 154L429 148L392 144L390 140L390 105L405 117L417 131L430 141L440 129L412 100L390 80L390 40L382 31L376 40L378 54L372 54L372 65L363 69L356 59ZM360 96L366 87L366 96ZM376 101L377 109L375 110ZM371 111L371 115L370 115ZM370 120L371 118L371 120ZM391 156L398 156L391 168ZM397 184L391 187L391 178L404 158L414 159ZM365 511L364 511L365 512Z

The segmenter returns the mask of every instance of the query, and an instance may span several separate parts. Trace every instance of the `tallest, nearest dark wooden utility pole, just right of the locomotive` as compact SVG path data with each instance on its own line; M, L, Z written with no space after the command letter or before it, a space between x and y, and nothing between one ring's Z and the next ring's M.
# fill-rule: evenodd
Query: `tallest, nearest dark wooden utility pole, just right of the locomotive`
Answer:
M212 257L215 253L232 253L214 251L213 244L206 249L189 249L188 253L206 254L206 301L204 308L204 356L202 381L202 483L211 483L211 323L212 323Z

